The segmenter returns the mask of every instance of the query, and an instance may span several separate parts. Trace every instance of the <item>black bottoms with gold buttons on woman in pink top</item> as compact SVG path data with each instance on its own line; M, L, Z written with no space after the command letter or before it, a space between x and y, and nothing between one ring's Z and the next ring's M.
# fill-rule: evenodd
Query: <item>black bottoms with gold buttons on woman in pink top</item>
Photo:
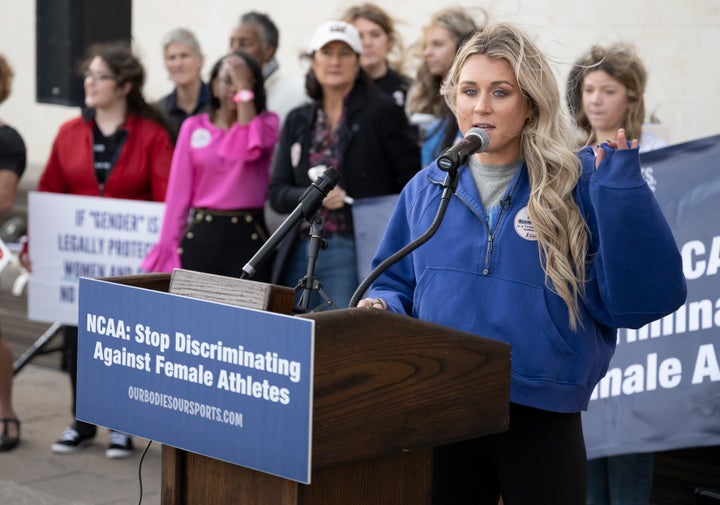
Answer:
M208 274L240 277L242 268L268 238L262 209L213 211L195 209L180 242L183 268ZM257 269L252 280L270 282L272 259Z

